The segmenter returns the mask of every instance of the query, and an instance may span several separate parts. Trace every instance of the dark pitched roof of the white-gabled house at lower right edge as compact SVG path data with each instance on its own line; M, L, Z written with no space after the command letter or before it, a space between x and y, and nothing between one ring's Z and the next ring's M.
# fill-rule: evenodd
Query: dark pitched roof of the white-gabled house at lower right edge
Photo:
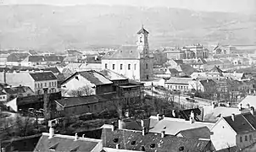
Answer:
M227 122L237 133L248 133L255 131L256 118L253 117L250 112L235 115L234 121L232 120L231 116L223 118L225 119L225 122Z

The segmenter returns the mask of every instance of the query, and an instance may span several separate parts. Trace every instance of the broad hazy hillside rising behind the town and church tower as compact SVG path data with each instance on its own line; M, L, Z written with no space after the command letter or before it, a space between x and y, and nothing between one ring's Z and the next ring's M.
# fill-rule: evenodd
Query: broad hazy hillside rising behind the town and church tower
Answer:
M144 24L151 48L256 43L256 16L129 6L0 6L0 44L62 52L65 48L134 44Z

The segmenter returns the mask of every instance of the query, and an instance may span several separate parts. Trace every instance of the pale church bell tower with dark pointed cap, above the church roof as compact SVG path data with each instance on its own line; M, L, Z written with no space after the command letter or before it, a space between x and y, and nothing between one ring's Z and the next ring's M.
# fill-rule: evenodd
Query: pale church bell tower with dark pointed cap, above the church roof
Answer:
M141 50L141 53L148 53L148 31L144 29L142 25L142 29L137 32L137 46L138 50Z

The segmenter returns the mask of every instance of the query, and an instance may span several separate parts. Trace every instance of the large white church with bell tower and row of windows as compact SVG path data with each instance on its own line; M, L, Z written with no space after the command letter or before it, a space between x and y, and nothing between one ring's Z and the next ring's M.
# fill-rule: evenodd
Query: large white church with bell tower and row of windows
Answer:
M137 32L136 45L122 45L107 53L102 58L102 69L108 68L136 81L152 79L153 55L149 52L148 34L142 26Z

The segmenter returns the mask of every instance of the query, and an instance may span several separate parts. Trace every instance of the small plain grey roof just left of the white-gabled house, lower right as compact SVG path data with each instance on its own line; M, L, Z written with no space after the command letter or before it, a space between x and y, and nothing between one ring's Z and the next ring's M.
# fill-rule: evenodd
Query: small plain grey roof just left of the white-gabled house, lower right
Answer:
M209 128L202 127L202 128L192 128L181 130L180 133L184 138L210 138L211 132Z

